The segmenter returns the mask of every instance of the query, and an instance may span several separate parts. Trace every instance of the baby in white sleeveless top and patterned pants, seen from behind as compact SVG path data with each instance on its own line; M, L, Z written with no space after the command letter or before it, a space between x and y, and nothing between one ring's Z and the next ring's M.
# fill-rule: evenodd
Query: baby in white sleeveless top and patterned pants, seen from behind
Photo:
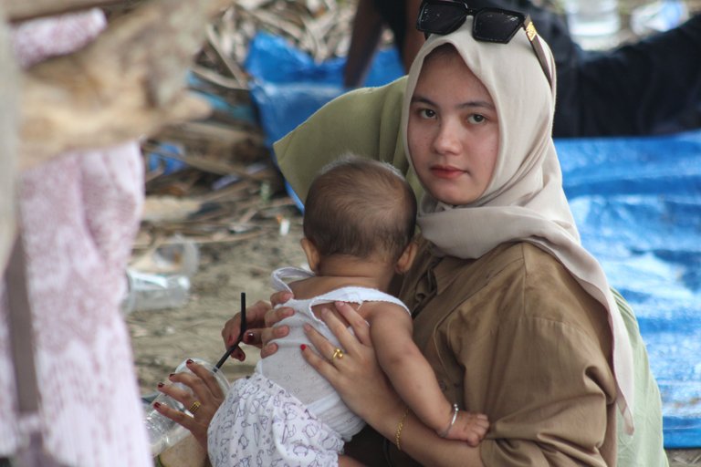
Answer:
M237 380L214 415L207 436L214 467L351 462L340 455L343 443L364 421L299 350L310 345L303 330L308 323L337 347L328 358L342 358L338 340L318 317L321 306L336 301L354 304L368 321L382 369L419 419L445 438L471 445L482 440L487 417L445 399L413 343L411 312L387 294L392 277L412 265L415 220L412 189L391 165L346 157L320 172L309 188L301 241L312 272L286 267L273 273L277 290L293 292L284 306L296 313L281 321L290 331L276 341L277 352L260 360L252 377Z

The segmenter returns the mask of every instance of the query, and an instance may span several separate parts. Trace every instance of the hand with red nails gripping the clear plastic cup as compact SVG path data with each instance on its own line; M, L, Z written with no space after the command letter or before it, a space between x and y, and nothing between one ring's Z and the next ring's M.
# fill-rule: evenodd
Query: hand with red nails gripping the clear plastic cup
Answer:
M158 390L189 408L193 416L158 402L153 404L153 408L165 417L183 425L184 428L193 433L194 439L206 450L207 428L214 418L214 413L224 402L225 394L214 379L214 375L207 368L193 360L187 361L187 368L193 373L173 373L169 379L173 383L183 383L192 389L192 392L163 383L159 383Z

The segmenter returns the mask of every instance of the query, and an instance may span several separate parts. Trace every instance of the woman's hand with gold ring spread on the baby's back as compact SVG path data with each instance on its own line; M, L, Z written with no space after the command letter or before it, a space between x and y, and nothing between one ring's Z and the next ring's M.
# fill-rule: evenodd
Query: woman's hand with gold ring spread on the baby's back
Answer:
M342 357L334 358L336 347L309 326L305 326L305 331L318 353L311 348L302 348L302 353L309 365L329 380L348 407L377 429L376 423L388 414L393 418L397 405L403 403L377 363L368 323L347 303L335 305L355 333L353 336L330 310L322 311L321 318L339 339Z

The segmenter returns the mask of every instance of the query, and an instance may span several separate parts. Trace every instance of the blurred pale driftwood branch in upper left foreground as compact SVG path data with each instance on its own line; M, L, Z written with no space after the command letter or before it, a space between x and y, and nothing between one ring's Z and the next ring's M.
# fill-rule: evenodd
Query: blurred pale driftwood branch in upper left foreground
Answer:
M221 0L155 0L120 16L75 54L30 68L22 86L21 162L152 134L203 117L184 77Z

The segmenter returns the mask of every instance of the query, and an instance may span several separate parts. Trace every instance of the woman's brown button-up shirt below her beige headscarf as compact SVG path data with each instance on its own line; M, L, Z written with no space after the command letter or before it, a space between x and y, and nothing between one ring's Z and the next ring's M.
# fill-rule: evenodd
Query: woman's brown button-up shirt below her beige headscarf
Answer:
M476 260L424 241L400 297L448 400L488 413L486 465L615 465L616 383L602 304L527 243Z

